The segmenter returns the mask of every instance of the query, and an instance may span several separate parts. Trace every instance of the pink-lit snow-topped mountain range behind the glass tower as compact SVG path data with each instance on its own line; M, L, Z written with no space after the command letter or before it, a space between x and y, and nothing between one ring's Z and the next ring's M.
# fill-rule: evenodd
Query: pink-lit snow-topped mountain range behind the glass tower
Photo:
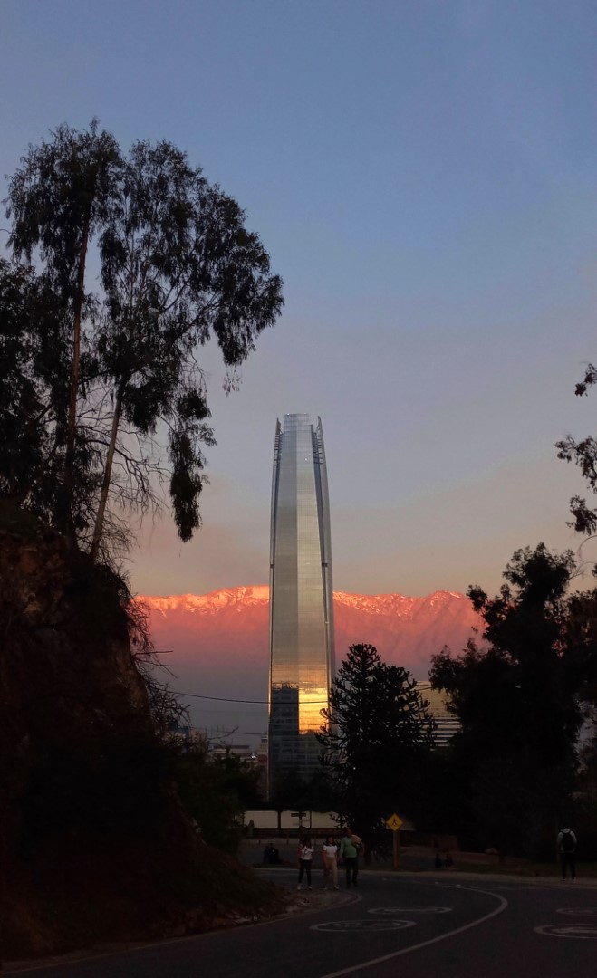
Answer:
M169 650L161 661L171 667L173 689L267 699L267 587L141 600L151 614L157 649ZM416 679L427 677L430 658L443 645L460 651L472 628L479 627L470 600L446 591L426 598L337 592L334 610L337 665L349 645L368 642L377 647L384 661L404 666ZM206 726L227 726L234 721L239 729L249 730L255 725L249 706L238 706L234 718L226 719L224 706L217 702L196 700L195 705L201 707L201 722ZM194 713L197 717L197 710Z

